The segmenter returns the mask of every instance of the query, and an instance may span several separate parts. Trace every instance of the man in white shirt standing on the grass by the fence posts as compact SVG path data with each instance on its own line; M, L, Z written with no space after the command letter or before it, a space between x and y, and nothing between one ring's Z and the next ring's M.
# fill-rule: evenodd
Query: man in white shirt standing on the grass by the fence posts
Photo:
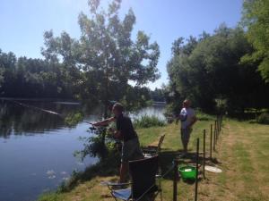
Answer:
M192 132L192 126L197 121L195 110L190 107L190 100L183 101L183 108L180 111L178 119L181 121L181 141L184 154L187 153L187 144Z

